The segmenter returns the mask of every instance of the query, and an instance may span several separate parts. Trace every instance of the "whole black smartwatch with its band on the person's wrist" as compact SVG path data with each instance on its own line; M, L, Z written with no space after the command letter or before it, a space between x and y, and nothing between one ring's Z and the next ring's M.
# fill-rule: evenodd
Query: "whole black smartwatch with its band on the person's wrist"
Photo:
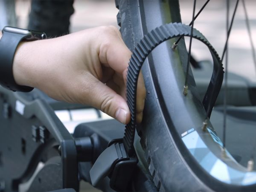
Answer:
M13 77L12 64L15 51L20 41L45 39L46 34L27 29L6 26L0 40L0 84L12 91L29 92L32 87L18 85Z

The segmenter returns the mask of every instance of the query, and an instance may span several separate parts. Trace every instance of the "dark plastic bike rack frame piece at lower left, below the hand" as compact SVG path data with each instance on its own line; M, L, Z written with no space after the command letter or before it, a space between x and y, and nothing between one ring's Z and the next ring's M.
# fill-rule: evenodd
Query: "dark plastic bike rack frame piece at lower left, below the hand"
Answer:
M1 111L7 104L8 118L0 116L0 172L5 175L0 180L4 180L6 190L16 191L19 183L26 182L32 176L40 161L46 161L52 155L59 156L56 146L61 144L64 146L61 149L62 187L78 190L75 142L54 111L41 99L28 101L20 93L0 87ZM41 139L44 138L44 143L33 138L33 128L39 129L40 126L49 131L48 136L45 131L38 134Z

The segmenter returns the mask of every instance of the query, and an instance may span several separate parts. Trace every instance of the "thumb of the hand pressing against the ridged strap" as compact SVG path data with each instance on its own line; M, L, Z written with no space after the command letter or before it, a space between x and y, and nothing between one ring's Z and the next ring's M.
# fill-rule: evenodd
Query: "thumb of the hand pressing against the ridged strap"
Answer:
M90 87L89 103L112 116L119 122L127 124L130 121L130 111L125 99L101 81Z

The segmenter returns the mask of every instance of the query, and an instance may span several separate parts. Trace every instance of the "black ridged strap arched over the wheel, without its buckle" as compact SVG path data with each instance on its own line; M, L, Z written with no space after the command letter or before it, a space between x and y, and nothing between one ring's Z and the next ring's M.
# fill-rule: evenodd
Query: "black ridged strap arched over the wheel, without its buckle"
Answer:
M157 27L156 29L153 29L151 32L145 35L137 44L133 51L133 54L131 55L127 73L126 87L127 103L131 112L131 122L129 122L125 126L125 136L123 138L125 150L130 157L134 155L133 143L136 129L137 81L143 62L145 61L148 54L163 41L179 36L190 36L190 32L191 27L182 23L169 23L162 25L160 27ZM192 37L203 42L208 47L213 59L214 67L212 72L212 78L203 101L203 105L205 110L207 111L207 115L210 116L218 93L221 89L224 74L222 67L223 65L221 64L221 60L217 52L207 41L204 35L202 35L198 30L193 29Z

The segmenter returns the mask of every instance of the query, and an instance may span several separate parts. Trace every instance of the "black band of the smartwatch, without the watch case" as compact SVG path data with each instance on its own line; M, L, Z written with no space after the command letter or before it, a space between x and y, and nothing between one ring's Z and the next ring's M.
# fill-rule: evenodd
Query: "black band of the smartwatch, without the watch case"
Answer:
M18 44L27 35L3 31L0 40L0 84L12 91L29 92L32 87L18 85L13 76L13 59Z

